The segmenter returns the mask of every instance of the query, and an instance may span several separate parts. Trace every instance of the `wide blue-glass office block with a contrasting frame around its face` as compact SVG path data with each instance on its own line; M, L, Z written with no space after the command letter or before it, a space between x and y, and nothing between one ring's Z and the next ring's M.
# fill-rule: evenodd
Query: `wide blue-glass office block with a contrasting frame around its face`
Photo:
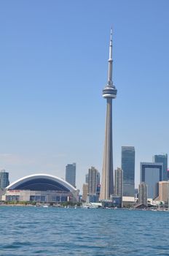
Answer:
M163 164L141 162L141 182L147 184L147 197L154 199L159 195L159 181L162 181Z

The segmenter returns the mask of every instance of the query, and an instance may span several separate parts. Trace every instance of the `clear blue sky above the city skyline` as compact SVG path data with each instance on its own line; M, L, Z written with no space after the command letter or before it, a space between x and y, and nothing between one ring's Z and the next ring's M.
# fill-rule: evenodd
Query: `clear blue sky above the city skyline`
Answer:
M10 181L101 171L113 25L114 168L121 146L140 162L168 153L169 1L1 0L0 167Z

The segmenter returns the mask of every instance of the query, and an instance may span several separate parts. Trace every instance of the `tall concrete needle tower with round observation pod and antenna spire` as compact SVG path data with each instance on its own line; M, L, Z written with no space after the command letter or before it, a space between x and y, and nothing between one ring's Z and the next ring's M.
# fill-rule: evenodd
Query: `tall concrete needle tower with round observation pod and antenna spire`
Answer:
M103 169L101 178L101 195L100 200L109 200L110 195L114 194L114 172L113 172L113 146L112 146L112 99L117 97L117 89L112 80L112 29L109 45L109 69L108 82L103 89L103 98L106 99L106 129L105 143L103 153Z

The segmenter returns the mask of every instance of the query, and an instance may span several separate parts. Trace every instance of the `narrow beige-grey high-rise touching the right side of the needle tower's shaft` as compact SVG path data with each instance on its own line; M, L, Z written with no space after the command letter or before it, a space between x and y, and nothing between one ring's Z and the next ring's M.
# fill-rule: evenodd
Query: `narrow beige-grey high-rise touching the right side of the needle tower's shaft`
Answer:
M122 197L123 195L123 171L117 168L114 172L114 194Z

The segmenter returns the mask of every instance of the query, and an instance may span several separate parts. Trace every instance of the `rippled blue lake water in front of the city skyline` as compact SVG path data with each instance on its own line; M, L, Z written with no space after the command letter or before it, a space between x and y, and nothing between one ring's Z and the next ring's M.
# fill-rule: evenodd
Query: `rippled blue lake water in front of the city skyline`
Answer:
M0 207L0 255L169 255L169 212Z

